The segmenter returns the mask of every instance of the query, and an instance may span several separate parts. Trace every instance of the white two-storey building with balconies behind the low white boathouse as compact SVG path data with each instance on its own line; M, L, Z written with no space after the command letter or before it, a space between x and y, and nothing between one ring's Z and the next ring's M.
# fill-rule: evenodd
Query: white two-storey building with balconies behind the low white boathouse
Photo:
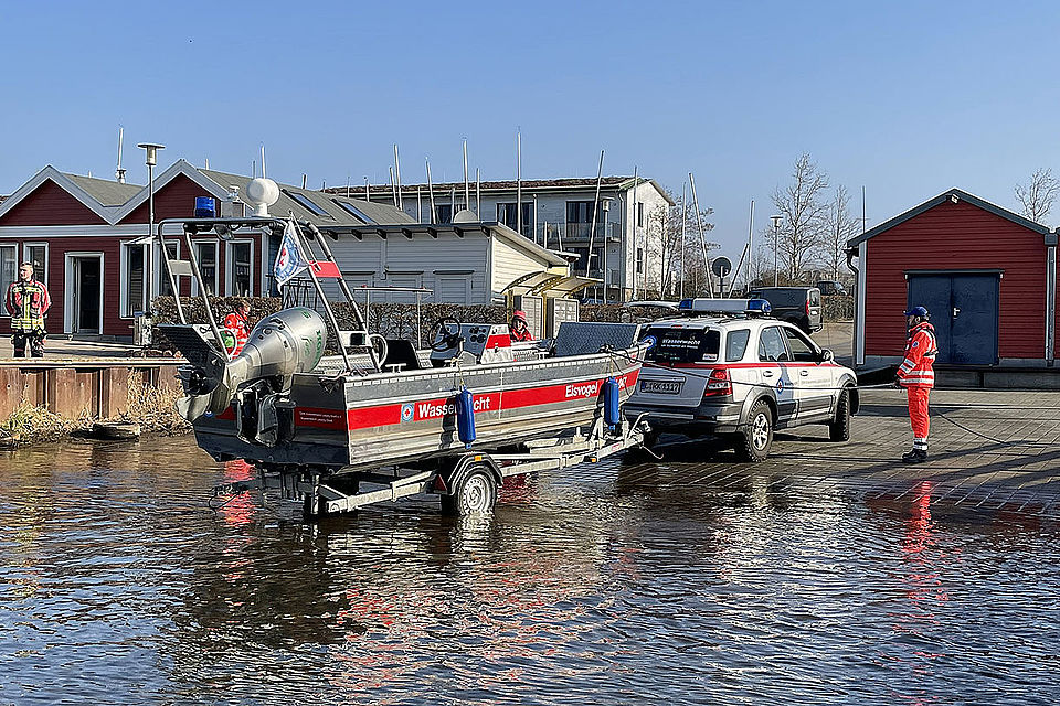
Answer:
M402 210L420 223L447 224L454 213L469 207L481 221L504 224L542 248L576 254L575 275L603 280L606 269L608 301L643 298L642 292L658 289L660 264L647 255L662 227L658 214L675 204L651 179L640 178L635 183L632 176L605 176L596 232L591 234L595 190L595 179L524 180L521 189L515 181L471 182L469 203L465 203L463 182L434 184L433 220L426 184L402 185L400 200ZM329 192L346 194L347 190ZM364 186L351 188L349 195L363 200L364 192ZM373 185L369 194L372 202L394 203L389 185ZM602 300L603 288L590 289L587 296Z

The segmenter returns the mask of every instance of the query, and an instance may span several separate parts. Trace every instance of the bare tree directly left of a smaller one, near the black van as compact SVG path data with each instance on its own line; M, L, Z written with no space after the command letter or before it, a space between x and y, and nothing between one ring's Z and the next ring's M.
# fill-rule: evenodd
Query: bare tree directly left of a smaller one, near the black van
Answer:
M822 196L827 188L828 175L804 152L795 160L792 182L773 191L773 205L784 216L776 247L792 281L798 279L824 239L828 204Z

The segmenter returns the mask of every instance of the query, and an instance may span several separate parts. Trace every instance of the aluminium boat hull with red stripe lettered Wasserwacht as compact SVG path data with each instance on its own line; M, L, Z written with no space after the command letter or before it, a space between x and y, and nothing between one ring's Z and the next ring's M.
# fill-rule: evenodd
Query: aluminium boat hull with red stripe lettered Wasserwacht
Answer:
M603 383L619 400L633 393L644 346L532 362L371 374L328 383L319 371L294 376L293 435L276 446L239 437L231 410L194 424L199 445L219 459L360 470L463 451L456 395L474 398L473 449L494 450L586 425L602 414Z

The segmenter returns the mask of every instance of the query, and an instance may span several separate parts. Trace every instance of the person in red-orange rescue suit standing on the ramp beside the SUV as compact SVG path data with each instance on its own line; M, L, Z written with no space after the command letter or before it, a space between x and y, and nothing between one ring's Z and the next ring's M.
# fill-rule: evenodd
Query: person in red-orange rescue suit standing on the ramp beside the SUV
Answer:
M905 388L909 396L909 422L913 428L913 450L902 454L905 463L922 463L928 460L928 432L931 419L928 416L928 397L935 386L935 355L939 345L935 329L928 323L928 310L913 307L905 312L909 333L905 336L905 360L898 366L894 383Z

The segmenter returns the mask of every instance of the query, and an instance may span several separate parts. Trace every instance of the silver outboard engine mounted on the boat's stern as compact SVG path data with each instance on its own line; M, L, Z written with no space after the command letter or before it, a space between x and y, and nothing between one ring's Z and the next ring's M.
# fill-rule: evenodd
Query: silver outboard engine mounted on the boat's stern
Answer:
M244 441L275 446L290 438L292 379L295 373L317 366L328 341L320 314L295 307L262 319L231 361L218 350L209 327L159 328L191 363L181 370L184 396L177 402L177 410L182 417L194 422L232 407Z

